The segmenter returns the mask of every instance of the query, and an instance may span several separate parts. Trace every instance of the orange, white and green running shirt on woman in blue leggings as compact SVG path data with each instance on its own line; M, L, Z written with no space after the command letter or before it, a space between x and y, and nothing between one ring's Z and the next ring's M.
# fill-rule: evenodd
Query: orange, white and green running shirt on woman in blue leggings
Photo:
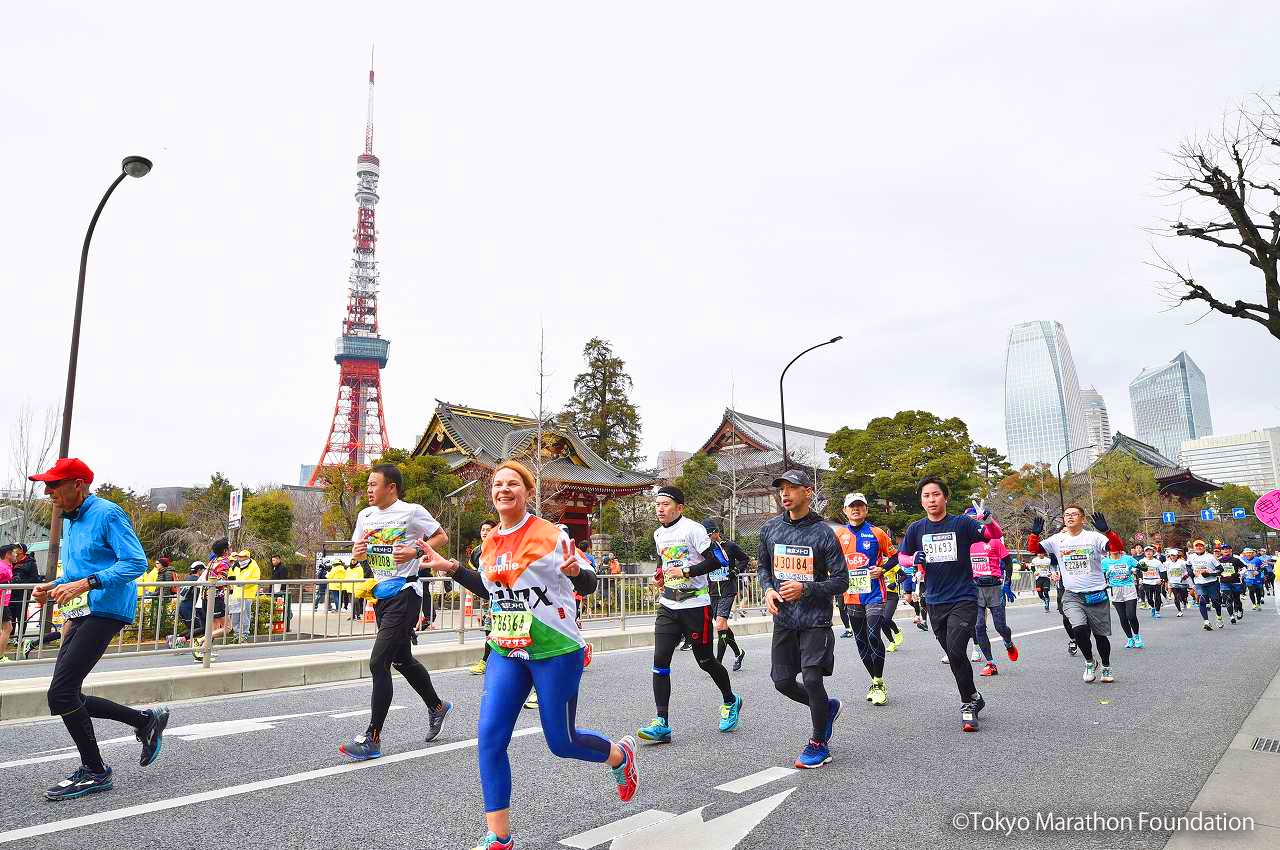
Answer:
M525 515L512 529L494 529L480 550L480 573L489 589L489 645L511 658L538 661L582 648L573 582L561 572L577 557L568 535L552 522Z

